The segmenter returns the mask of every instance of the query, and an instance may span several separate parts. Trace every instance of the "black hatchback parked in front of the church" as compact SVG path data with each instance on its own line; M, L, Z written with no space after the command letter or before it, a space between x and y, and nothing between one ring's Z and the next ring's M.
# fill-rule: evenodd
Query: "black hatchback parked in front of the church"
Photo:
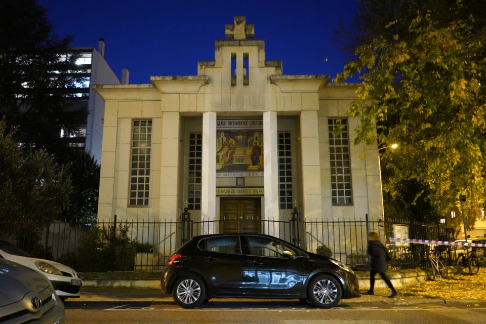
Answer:
M296 298L330 308L359 296L345 264L263 234L192 237L167 262L161 287L184 308L216 297Z

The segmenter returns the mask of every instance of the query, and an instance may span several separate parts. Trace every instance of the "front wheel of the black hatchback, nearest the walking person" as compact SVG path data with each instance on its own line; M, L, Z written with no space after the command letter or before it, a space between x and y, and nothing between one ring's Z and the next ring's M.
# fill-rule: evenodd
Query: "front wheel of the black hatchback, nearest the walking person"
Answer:
M336 278L318 275L307 286L307 299L318 308L331 308L341 300L342 289Z

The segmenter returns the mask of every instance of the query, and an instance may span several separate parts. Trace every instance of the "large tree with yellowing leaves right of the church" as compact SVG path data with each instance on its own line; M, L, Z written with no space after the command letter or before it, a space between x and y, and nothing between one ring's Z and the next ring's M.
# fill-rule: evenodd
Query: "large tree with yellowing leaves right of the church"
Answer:
M486 6L463 0L363 0L366 26L355 34L357 59L337 82L361 73L348 113L359 116L356 143L400 143L385 152L395 183L415 179L440 212L466 194L486 200ZM383 9L377 12L376 8ZM385 9L386 8L386 9ZM382 160L383 161L383 160ZM417 196L423 194L419 190ZM415 201L415 200L414 200Z

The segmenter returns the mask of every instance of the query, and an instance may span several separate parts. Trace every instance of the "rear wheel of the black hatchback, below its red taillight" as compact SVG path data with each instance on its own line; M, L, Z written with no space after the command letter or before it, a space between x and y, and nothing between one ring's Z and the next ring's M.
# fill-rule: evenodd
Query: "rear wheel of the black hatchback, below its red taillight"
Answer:
M194 308L202 304L205 297L204 282L195 275L185 275L177 279L172 290L174 301L183 308Z

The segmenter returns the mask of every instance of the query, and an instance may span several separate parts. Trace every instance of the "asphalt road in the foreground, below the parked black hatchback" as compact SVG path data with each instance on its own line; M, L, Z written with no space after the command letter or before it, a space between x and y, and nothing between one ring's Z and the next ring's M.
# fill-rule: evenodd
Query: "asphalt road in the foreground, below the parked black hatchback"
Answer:
M377 324L483 324L486 302L444 305L393 305L383 303L342 304L332 309L316 309L297 302L209 302L198 309L175 304L66 303L66 323L377 323Z

